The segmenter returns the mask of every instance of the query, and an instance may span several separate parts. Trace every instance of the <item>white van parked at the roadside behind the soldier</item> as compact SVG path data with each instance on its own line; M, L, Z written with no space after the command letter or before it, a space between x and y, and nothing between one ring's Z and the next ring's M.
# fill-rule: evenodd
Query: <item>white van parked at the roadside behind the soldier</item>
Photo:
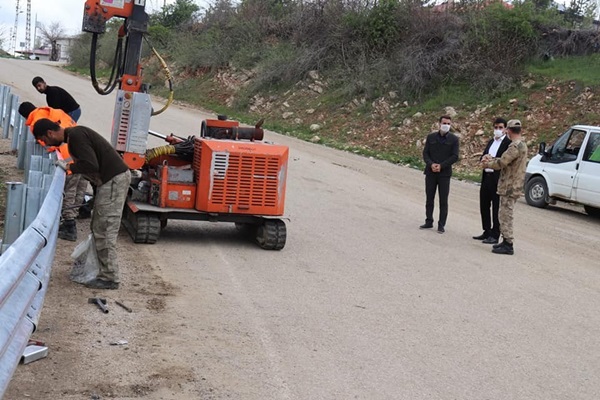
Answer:
M552 146L540 143L527 164L524 189L529 205L562 200L600 217L600 126L574 125Z

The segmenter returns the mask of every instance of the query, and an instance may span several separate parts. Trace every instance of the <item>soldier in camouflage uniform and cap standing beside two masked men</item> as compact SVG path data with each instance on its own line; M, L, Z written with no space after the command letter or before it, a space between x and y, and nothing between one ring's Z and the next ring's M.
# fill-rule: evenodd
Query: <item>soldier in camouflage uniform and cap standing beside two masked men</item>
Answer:
M493 246L492 252L496 254L514 254L513 211L515 202L521 196L527 167L527 145L521 139L521 121L511 119L506 124L506 130L512 140L508 149L499 158L486 155L481 160L484 167L500 170L498 219L504 240Z

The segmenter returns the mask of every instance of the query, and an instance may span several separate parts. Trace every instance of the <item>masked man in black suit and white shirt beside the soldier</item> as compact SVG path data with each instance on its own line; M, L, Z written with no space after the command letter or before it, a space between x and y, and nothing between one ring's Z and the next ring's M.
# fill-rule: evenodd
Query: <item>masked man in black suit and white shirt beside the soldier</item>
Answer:
M506 135L506 120L496 118L494 121L494 137L490 139L481 155L489 154L500 158L508 148L510 139ZM480 160L481 160L480 158ZM481 186L479 187L479 211L481 213L481 226L483 233L473 236L475 240L481 240L486 244L496 244L500 238L500 221L498 220L498 209L500 207L500 196L498 196L498 179L500 170L483 168L481 171ZM492 214L490 217L490 207Z

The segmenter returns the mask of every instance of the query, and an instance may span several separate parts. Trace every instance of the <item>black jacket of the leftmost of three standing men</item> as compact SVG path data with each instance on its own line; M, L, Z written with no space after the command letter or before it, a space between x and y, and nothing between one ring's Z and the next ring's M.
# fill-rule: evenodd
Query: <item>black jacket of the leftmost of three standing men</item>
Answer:
M425 175L434 174L431 164L440 164L440 176L452 176L452 164L458 161L459 148L458 137L452 132L446 133L443 138L439 131L427 135L425 148L423 149L423 161L425 161Z

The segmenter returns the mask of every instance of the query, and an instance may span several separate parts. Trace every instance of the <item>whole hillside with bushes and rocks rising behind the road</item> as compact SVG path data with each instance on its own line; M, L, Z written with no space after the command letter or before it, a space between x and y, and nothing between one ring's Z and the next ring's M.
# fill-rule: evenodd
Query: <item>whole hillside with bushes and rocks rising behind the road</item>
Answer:
M540 137L596 120L600 34L573 8L584 3L591 0L560 12L537 0L446 9L410 0L219 0L200 12L177 0L150 15L144 80L167 94L151 44L178 101L415 167L423 138L452 114L463 144L458 170L469 177L497 116L522 119L532 151ZM93 53L98 76L108 76L120 24L109 21L96 47L80 35L72 67L87 72Z

